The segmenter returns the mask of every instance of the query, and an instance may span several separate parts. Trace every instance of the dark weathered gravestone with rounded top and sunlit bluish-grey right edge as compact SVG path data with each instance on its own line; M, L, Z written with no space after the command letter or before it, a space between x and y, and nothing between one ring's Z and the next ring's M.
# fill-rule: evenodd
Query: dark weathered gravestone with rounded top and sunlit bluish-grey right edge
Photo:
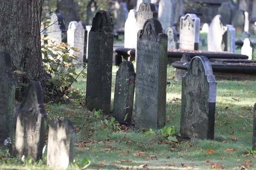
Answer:
M217 82L209 59L193 57L182 77L180 134L199 139L214 138Z

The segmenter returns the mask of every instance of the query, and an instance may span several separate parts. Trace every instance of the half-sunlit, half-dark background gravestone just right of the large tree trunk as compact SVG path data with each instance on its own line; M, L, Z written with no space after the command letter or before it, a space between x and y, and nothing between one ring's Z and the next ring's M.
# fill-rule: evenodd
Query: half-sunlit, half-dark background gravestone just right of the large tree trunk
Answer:
M52 41L67 42L67 29L61 14L52 14L51 22L47 28L48 37Z

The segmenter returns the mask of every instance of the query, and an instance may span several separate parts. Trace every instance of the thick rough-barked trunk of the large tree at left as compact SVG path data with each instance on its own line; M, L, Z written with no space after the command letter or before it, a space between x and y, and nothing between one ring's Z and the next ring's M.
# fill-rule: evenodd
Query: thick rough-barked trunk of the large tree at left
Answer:
M44 70L41 55L41 12L44 0L1 0L0 51L8 51L16 79L16 99L23 98L26 84L41 82L44 101L49 101L46 83L51 78ZM25 86L24 86L25 85Z

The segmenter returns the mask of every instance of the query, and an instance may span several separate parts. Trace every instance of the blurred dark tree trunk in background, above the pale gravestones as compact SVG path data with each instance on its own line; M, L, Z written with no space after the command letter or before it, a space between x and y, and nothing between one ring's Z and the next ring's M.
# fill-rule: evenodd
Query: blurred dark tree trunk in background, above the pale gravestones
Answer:
M66 28L71 21L79 21L79 7L75 0L58 0L56 11L62 14Z

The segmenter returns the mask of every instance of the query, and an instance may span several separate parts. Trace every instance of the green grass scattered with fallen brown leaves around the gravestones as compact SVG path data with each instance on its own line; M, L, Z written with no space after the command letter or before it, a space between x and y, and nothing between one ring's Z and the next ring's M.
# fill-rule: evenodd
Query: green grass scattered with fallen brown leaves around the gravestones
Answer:
M112 107L117 69L113 67ZM214 140L190 141L179 136L181 82L173 80L174 74L174 68L168 65L166 127L175 127L178 142L169 142L166 134L155 129L151 132L135 130L134 126L117 126L117 122L107 125L105 121L111 122L111 117L85 110L80 100L70 104L46 104L48 124L54 116L73 122L76 128L74 158L78 164L84 158L90 160L86 169L255 168L256 155L251 148L256 81L219 80ZM74 88L85 93L85 81L79 79ZM47 133L48 128L49 125ZM21 164L16 159L4 158L3 154L0 156L1 170L49 169L42 161ZM79 166L68 169L79 169Z

